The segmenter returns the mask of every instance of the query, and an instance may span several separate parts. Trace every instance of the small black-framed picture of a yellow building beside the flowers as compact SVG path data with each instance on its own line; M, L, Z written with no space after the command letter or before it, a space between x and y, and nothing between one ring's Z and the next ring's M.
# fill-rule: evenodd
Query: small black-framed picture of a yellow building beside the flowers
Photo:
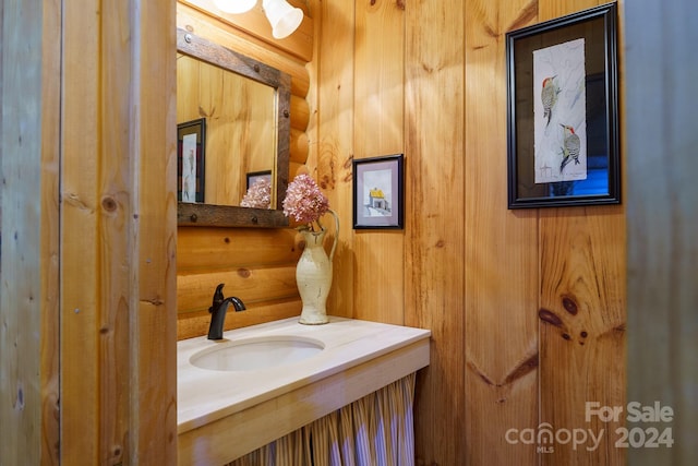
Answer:
M354 159L353 228L404 227L402 154Z

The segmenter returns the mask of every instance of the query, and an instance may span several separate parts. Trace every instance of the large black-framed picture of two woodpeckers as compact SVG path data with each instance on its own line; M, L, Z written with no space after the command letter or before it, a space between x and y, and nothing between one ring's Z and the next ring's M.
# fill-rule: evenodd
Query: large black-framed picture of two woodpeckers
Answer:
M506 34L508 208L621 202L616 22L609 3Z

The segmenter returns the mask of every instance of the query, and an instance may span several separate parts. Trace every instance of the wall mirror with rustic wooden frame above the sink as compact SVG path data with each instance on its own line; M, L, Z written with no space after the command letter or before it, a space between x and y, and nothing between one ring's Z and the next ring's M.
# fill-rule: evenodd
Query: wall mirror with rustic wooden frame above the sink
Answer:
M287 226L290 76L181 28L177 49L178 225ZM270 208L241 206L258 180Z

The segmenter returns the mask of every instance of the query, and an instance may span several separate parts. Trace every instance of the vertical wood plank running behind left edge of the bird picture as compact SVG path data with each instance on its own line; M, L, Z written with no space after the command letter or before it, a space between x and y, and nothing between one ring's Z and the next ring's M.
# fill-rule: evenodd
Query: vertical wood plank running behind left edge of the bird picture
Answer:
M534 21L535 9L466 4L467 464L533 465L534 447L506 440L538 423L539 250L537 212L506 210L504 35Z

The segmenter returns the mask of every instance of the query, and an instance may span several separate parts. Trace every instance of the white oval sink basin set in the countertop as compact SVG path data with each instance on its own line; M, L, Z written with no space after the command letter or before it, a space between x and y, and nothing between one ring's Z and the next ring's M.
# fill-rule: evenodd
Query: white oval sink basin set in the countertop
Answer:
M197 368L214 371L252 371L302 361L324 348L325 345L316 339L276 335L219 343L195 353L189 361Z

